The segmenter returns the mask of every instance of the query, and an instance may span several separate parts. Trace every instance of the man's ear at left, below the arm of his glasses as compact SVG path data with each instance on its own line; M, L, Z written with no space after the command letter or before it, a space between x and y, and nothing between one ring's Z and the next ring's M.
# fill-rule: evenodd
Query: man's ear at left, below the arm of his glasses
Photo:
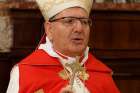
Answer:
M47 35L47 37L52 40L52 24L48 21L46 21L44 23L44 27L45 27L45 33Z

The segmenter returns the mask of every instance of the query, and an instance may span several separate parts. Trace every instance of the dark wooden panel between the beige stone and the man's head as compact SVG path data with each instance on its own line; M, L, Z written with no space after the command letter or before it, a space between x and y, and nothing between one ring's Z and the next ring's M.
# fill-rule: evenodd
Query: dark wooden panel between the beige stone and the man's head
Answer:
M43 33L43 20L39 11L13 9L10 13L14 24L13 49L34 49Z

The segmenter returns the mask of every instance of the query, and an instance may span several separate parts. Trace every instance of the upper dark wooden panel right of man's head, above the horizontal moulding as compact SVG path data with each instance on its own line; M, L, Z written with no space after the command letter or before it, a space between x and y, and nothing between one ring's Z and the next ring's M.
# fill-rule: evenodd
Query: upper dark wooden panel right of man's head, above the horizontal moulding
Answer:
M93 11L92 43L97 49L140 49L140 12Z

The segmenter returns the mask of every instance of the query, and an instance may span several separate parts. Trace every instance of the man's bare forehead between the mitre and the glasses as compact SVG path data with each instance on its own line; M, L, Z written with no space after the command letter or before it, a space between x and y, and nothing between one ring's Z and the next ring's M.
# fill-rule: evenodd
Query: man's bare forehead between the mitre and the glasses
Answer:
M72 7L67 8L61 11L56 17L66 17L66 16L74 16L74 17L88 17L88 13L80 7Z

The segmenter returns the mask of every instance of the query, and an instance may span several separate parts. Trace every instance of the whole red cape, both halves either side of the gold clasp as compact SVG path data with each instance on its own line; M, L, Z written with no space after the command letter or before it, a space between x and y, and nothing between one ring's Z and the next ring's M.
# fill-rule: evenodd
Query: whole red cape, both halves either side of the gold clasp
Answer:
M36 50L19 64L19 93L59 93L68 84L59 77L63 68L57 58L43 50ZM111 70L89 54L85 64L90 77L85 82L90 93L120 93L111 77Z

